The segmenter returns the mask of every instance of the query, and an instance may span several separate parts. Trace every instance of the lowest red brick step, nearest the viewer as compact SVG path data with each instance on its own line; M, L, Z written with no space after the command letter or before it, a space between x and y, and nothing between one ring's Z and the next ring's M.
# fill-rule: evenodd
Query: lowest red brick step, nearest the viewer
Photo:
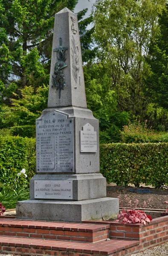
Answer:
M0 236L0 252L29 255L55 256L122 256L130 255L139 250L138 241L123 241L111 239L96 243L80 243L73 241L55 241L31 239L23 237Z

